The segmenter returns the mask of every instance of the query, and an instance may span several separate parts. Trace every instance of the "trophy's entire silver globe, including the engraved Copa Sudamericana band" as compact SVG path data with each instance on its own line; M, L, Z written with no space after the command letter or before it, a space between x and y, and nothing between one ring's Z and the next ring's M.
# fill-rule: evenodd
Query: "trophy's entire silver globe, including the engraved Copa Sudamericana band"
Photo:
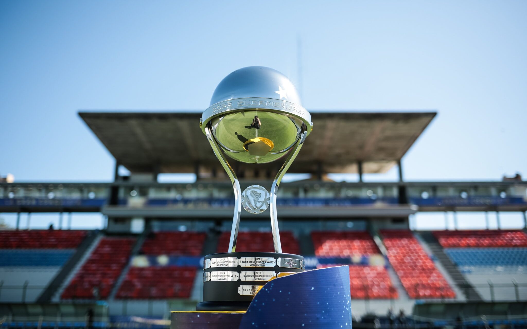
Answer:
M284 156L311 116L301 106L295 85L264 66L240 68L216 87L201 127L210 125L223 152L245 163L268 163Z

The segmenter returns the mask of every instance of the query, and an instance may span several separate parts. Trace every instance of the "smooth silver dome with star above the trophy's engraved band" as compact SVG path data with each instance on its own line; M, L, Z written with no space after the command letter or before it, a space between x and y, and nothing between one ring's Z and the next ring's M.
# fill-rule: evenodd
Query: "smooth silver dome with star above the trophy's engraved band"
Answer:
M297 89L289 78L265 66L248 66L230 73L214 90L210 105L247 97L278 99L301 105Z

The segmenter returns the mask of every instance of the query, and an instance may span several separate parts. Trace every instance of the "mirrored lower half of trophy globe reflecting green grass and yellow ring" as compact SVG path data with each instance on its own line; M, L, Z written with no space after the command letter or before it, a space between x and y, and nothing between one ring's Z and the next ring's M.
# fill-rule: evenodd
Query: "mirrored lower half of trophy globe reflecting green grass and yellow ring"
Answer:
M268 163L284 156L300 136L302 121L288 114L250 109L211 120L223 151L245 163Z

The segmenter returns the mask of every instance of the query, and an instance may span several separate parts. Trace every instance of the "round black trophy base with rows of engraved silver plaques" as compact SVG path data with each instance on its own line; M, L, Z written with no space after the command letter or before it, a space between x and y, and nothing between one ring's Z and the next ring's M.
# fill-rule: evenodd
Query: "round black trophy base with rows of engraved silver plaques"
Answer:
M304 257L269 252L236 252L204 258L203 302L196 311L247 311L267 282L304 272Z

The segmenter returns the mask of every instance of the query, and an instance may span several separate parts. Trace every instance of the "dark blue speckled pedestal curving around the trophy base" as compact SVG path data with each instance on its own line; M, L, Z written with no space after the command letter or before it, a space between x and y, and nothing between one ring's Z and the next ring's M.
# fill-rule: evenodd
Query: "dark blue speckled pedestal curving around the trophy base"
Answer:
M245 313L172 312L171 316L171 329L226 327L351 328L349 267L321 268L272 280Z

